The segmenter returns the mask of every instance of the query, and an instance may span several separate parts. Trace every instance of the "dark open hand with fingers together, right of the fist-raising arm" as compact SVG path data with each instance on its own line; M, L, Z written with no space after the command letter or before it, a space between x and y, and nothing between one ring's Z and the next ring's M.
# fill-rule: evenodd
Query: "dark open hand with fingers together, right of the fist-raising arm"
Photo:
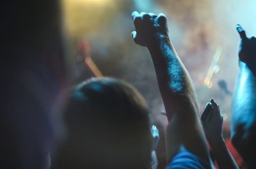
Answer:
M221 140L223 140L223 117L220 114L219 106L214 102L213 99L211 99L211 102L207 103L207 106L205 107L204 112L201 116L201 121L204 127L207 141L210 143L210 145L212 145L220 143Z

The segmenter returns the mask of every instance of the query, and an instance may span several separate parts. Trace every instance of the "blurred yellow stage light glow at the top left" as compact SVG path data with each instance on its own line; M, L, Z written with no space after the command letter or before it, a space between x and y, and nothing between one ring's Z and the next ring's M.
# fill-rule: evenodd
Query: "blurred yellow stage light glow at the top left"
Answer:
M62 0L64 23L72 38L81 38L113 18L117 5L113 0Z

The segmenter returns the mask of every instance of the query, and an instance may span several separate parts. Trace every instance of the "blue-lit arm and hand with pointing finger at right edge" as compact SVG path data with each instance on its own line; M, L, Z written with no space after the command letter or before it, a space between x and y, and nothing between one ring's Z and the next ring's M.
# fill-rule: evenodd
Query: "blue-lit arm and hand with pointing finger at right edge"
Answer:
M255 166L256 151L256 38L247 38L237 25L241 37L239 48L239 73L232 98L232 143L248 166Z

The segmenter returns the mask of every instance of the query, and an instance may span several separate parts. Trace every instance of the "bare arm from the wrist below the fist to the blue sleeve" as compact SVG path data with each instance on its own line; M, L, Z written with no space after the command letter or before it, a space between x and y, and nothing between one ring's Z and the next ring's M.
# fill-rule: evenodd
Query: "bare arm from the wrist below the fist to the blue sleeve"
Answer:
M179 152L181 145L209 161L204 132L196 114L195 92L186 68L166 37L154 41L148 50L169 120L166 131L168 162Z

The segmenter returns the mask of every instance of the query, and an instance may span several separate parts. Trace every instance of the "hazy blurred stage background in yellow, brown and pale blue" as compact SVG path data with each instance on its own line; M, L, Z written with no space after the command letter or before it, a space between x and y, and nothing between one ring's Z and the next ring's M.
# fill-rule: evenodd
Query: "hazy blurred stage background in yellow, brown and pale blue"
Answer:
M147 48L136 45L131 12L163 12L170 38L188 69L200 103L214 98L228 126L232 91L238 71L241 24L256 34L254 0L62 0L72 84L92 77L86 57L103 76L122 78L147 99L152 114L163 110L154 67Z

